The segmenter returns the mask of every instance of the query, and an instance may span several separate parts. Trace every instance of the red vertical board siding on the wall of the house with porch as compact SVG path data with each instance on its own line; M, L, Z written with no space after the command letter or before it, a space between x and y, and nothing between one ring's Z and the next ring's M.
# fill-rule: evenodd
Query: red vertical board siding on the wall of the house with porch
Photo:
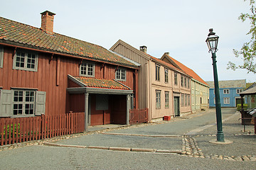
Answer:
M39 52L38 71L31 72L13 69L14 51L14 47L4 46L4 64L3 68L0 68L0 87L8 90L31 88L46 91L46 115L60 115L69 111L81 110L81 108L75 109L70 106L71 101L66 91L68 74L79 76L80 60L61 55L53 55L51 59L52 55ZM95 78L114 79L115 69L116 66L111 64L95 62ZM127 81L121 81L131 89L134 87L133 72L134 69L127 68Z

